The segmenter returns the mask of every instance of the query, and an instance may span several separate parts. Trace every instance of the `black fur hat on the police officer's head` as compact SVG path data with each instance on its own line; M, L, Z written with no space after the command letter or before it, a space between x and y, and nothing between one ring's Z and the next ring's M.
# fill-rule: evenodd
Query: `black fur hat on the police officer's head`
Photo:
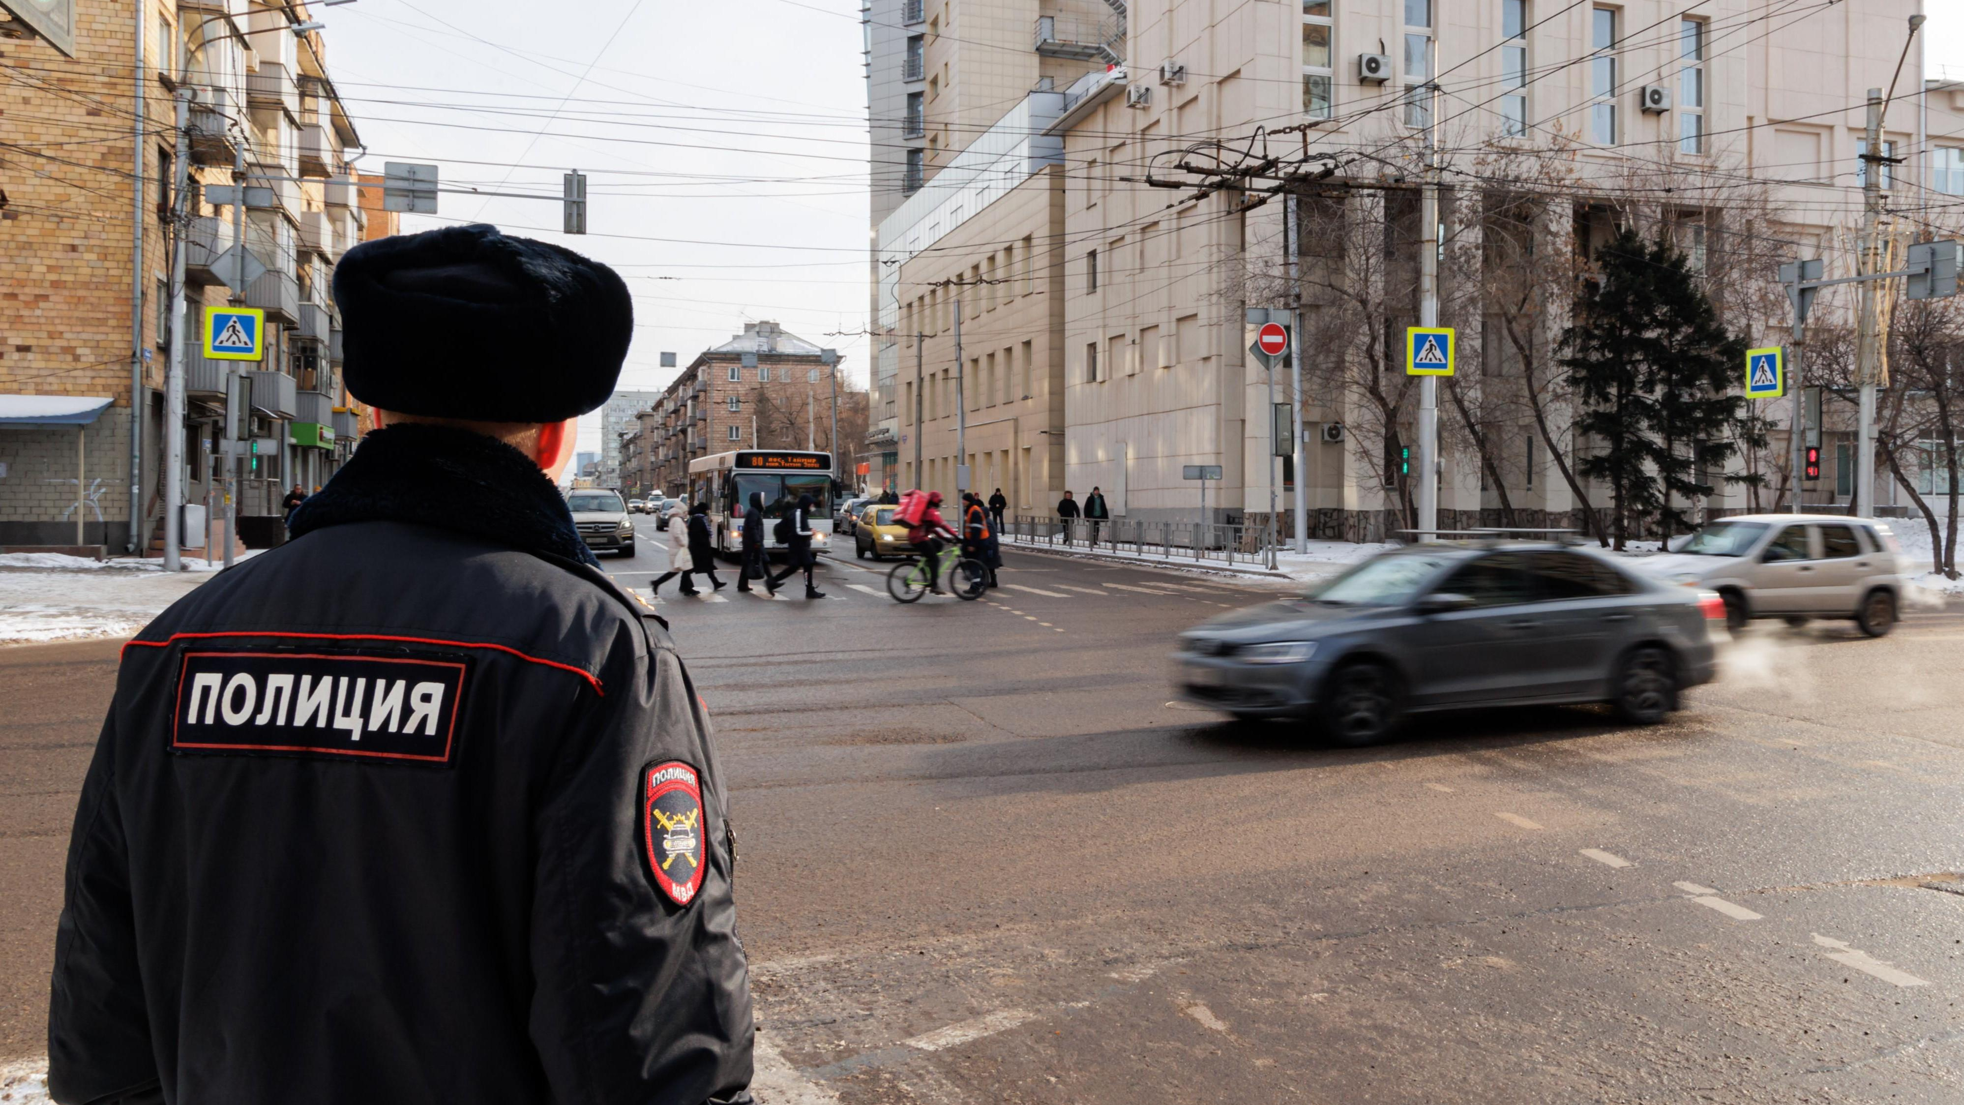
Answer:
M334 302L348 391L430 418L585 414L613 395L634 338L613 269L489 224L355 245L334 267Z

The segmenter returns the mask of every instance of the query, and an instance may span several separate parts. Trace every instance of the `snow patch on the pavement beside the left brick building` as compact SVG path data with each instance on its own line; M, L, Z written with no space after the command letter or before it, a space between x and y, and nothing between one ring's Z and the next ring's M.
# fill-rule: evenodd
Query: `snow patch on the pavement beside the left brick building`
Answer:
M185 567L169 573L155 559L0 555L0 646L130 636L224 565L187 557Z

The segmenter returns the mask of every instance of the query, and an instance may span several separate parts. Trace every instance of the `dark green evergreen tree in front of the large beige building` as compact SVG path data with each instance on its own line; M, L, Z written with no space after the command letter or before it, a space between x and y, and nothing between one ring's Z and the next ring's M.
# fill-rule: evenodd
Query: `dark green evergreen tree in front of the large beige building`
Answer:
M1579 471L1610 489L1610 536L1624 548L1638 520L1665 536L1689 528L1677 508L1711 495L1699 481L1752 436L1746 400L1730 393L1746 343L1718 314L1667 241L1624 228L1597 251L1575 324L1561 334L1561 367L1583 410L1575 430L1595 451Z

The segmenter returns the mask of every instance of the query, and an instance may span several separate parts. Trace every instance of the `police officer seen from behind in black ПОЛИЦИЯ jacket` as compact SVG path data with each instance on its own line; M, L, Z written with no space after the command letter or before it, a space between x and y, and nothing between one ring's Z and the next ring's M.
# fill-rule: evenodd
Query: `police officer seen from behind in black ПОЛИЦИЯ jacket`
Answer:
M334 275L377 430L124 648L55 942L84 1101L750 1101L709 724L556 487L623 281L491 226Z

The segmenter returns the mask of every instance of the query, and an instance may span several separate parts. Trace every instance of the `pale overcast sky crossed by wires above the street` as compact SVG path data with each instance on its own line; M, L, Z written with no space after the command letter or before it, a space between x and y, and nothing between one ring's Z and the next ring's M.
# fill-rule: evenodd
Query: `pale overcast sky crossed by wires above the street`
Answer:
M1931 0L1933 73L1964 79L1964 0ZM864 383L866 82L854 0L361 0L316 8L371 151L438 163L405 230L495 222L615 265L634 290L623 389L660 389L746 320L837 347ZM568 169L587 236L562 236ZM597 418L581 449L599 447Z

